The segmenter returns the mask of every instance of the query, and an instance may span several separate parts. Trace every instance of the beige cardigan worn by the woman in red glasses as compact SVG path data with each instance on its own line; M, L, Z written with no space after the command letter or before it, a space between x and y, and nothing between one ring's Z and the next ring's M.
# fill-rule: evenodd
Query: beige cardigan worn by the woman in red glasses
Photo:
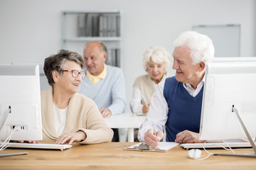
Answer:
M41 92L43 120L43 141L55 142L58 139L53 120L53 88ZM103 120L94 101L82 94L74 94L69 101L63 133L82 130L87 135L80 143L92 144L111 142L113 131Z

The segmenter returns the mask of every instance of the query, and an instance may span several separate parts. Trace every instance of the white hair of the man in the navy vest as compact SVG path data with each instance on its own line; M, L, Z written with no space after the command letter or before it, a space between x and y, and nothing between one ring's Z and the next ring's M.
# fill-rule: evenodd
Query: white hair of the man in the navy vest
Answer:
M211 62L214 57L213 41L207 35L197 33L196 31L186 31L176 38L175 47L186 45L190 50L190 57L193 64L199 62Z

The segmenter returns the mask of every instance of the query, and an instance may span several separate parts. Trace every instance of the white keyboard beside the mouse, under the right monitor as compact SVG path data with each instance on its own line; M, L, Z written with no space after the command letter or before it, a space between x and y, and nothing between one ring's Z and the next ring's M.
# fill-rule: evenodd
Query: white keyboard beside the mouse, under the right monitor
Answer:
M256 144L256 143L255 143ZM192 148L223 148L223 147L231 147L231 148L239 148L239 147L252 147L250 142L218 142L218 143L187 143L181 144L181 147L184 149L192 149Z

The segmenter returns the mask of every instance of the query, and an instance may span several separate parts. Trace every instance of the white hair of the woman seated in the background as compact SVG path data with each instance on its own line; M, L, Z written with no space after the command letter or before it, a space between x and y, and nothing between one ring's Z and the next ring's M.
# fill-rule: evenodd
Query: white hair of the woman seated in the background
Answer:
M171 55L165 50L164 47L151 46L146 50L146 52L144 52L142 64L145 71L148 67L150 58L153 62L156 63L164 62L165 71L167 72L170 65Z

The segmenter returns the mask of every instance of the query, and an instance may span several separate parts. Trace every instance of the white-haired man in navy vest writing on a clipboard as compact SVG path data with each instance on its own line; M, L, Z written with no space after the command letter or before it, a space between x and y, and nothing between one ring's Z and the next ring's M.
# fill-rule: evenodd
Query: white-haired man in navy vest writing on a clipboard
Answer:
M146 121L140 126L138 139L156 147L166 142L193 143L199 140L206 64L214 57L213 42L206 35L187 31L174 41L176 76L158 84L151 98Z

